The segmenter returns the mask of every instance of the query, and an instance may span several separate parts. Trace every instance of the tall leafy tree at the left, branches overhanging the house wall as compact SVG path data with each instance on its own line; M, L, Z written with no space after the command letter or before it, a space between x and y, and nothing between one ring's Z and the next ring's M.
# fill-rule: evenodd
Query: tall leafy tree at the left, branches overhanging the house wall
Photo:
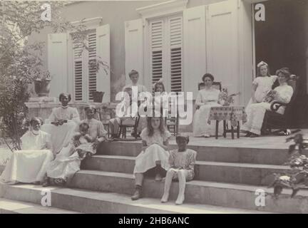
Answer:
M86 26L75 26L61 18L63 1L50 1L51 21L41 20L42 1L1 1L0 2L0 130L7 145L9 138L12 151L20 149L21 135L24 134L24 119L28 112L25 103L29 100L29 85L37 79L50 78L43 68L42 48L46 43L29 43L28 37L40 33L43 28L51 28L53 33L69 31L73 43L80 43L87 49L88 32ZM99 66L108 68L101 60Z

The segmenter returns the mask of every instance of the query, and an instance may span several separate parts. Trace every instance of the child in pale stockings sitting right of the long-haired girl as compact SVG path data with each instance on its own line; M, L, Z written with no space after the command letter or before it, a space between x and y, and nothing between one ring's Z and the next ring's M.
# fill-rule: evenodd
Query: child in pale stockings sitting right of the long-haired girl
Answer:
M187 149L189 137L178 135L176 137L178 150L172 150L169 156L170 169L165 177L165 189L160 202L168 202L172 180L179 181L178 199L175 204L183 204L186 181L193 180L194 165L197 156L195 150Z

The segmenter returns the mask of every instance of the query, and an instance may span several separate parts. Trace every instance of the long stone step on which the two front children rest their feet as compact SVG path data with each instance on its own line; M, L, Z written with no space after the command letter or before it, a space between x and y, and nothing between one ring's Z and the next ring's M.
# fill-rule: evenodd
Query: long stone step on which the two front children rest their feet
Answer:
M175 205L174 202L166 204L160 203L158 199L143 198L132 201L129 195L121 195L109 192L95 192L89 190L76 190L61 187L38 187L37 185L0 185L0 195L3 202L9 202L6 207L12 209L19 205L13 202L24 202L21 204L29 205L41 203L41 191L51 190L51 205L83 213L123 213L123 214L175 214L175 213L196 213L196 214L217 214L217 213L264 213L247 209L236 209L230 207L217 207L204 204L183 204ZM9 200L8 200L9 199ZM10 206L11 204L11 206ZM1 204L0 204L1 205Z

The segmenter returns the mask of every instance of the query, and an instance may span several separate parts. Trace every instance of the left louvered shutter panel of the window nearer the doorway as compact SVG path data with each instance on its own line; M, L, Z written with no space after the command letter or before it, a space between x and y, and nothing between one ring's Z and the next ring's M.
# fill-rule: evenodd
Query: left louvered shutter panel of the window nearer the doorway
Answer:
M150 22L152 83L163 77L163 20Z

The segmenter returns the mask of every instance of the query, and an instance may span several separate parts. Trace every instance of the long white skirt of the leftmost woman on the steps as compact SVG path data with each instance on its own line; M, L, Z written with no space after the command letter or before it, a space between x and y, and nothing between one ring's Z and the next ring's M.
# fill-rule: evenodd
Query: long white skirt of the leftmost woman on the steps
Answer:
M53 160L51 150L17 150L12 153L0 181L12 185L16 182L43 182L46 170Z

